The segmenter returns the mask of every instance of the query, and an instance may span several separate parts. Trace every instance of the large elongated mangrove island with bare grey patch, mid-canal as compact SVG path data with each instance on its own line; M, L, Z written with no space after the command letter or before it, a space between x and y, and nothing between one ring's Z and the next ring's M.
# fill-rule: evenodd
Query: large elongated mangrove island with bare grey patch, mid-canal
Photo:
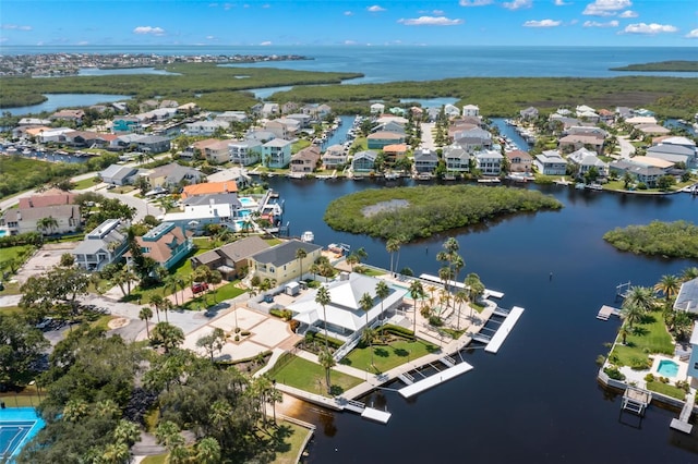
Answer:
M333 200L324 216L335 230L409 242L522 211L559 209L538 191L472 185L369 190Z

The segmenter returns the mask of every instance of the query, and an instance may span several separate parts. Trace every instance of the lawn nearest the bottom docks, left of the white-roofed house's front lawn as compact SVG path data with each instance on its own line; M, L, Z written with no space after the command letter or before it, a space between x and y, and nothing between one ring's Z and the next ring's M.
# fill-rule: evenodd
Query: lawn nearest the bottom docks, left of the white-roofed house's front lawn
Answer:
M290 359L288 356L290 356ZM294 355L282 356L269 373L269 377L284 384L328 396L327 386L325 384L325 369L320 364L311 363L302 357ZM363 381L334 369L329 375L329 379L335 394L341 394L341 392Z

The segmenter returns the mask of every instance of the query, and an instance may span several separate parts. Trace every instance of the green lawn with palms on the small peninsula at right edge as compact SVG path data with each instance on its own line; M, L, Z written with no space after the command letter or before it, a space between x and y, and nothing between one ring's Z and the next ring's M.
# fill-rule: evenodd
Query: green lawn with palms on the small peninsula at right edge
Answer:
M661 312L647 315L642 323L633 328L633 332L627 337L625 345L616 340L610 355L612 358L615 356L613 364L616 366L633 366L635 359L648 359L648 355L652 353L674 354L674 344Z

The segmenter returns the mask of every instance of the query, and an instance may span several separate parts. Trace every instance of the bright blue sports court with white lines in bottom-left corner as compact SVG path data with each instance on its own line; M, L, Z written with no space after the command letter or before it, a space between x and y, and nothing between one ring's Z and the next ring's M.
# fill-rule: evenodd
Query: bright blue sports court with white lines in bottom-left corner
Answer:
M12 462L46 424L33 407L0 410L0 462Z

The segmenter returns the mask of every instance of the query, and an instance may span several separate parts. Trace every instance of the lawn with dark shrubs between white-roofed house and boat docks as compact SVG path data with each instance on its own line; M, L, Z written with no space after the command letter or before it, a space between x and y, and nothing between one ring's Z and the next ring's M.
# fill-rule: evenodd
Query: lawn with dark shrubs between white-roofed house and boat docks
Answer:
M371 373L385 373L435 351L438 351L438 346L421 340L396 340L387 345L373 345L374 368L371 367L371 347L360 344L341 359L341 364Z

